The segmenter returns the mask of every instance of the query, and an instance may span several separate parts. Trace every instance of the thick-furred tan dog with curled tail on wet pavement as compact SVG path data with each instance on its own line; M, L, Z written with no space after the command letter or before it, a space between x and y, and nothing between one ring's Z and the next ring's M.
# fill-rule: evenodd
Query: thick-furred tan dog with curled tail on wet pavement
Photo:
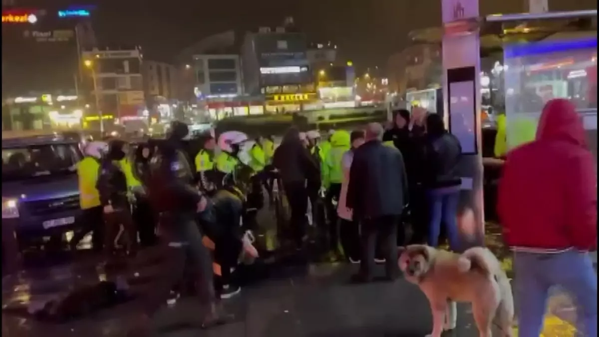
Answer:
M407 281L417 284L431 304L433 327L428 336L440 337L443 330L455 328L453 301L457 301L472 304L480 337L491 337L494 324L501 329L501 335L512 337L512 287L489 249L475 247L456 254L411 245L400 255L398 263Z

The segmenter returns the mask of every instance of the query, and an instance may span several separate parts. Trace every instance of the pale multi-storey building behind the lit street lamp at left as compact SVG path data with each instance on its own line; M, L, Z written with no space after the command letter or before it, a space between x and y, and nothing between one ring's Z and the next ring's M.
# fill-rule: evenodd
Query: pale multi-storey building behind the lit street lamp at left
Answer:
M90 100L95 101L97 95L102 115L112 115L118 121L136 118L146 110L140 47L94 49L82 56Z

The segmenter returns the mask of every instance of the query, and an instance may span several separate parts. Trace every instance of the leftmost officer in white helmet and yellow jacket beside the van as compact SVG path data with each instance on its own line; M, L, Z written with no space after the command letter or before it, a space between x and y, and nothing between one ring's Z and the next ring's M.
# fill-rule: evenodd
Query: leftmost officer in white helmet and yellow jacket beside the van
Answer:
M79 186L79 204L83 212L83 224L85 227L76 231L69 246L71 250L90 231L92 232L92 248L100 251L104 242L104 222L102 222L102 205L100 195L96 188L98 172L102 156L108 152L108 144L105 142L87 143L83 150L84 157L77 164L77 176Z

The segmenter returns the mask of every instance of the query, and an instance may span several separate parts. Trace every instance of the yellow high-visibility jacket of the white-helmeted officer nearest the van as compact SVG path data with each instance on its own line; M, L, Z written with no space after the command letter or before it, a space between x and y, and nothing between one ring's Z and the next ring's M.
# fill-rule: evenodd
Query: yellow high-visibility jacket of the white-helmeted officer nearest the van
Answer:
M79 206L89 209L100 206L100 193L96 188L100 161L93 157L85 157L77 164L79 185Z

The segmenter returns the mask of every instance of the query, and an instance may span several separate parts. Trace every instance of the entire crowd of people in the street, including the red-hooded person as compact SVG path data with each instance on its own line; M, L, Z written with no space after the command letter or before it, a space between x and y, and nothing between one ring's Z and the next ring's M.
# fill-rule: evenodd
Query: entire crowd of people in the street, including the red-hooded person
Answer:
M500 183L498 213L516 251L515 290L529 299L519 309L525 336L539 335L553 284L576 294L586 328L596 332L597 327L596 297L587 293L597 293L596 275L588 255L579 253L597 242L596 175L580 136L582 122L568 104L547 104L537 139L507 155ZM183 142L188 133L187 125L174 122L167 140L143 143L135 155L121 140L92 142L78 165L87 228L75 235L72 248L93 231L93 247L110 260L122 227L128 254L138 245L162 245L167 252L170 269L156 279L134 333L147 333L153 312L189 275L202 325L230 318L219 299L239 293L232 272L240 261L259 255L252 240L259 230L256 212L265 206L262 191L269 204L273 201L275 180L288 201L295 248L305 249L308 226L318 222L327 258L360 264L356 282L372 281L377 262L385 264L389 280L397 279L398 246L438 246L446 238L453 251L466 248L456 222L461 145L438 114L398 110L386 127L371 123L351 132L304 133L291 127L279 146L271 137L256 139L246 161L240 151L247 137L217 144L213 133L201 137L192 160ZM573 166L546 163L556 159ZM555 272L560 269L572 273Z

